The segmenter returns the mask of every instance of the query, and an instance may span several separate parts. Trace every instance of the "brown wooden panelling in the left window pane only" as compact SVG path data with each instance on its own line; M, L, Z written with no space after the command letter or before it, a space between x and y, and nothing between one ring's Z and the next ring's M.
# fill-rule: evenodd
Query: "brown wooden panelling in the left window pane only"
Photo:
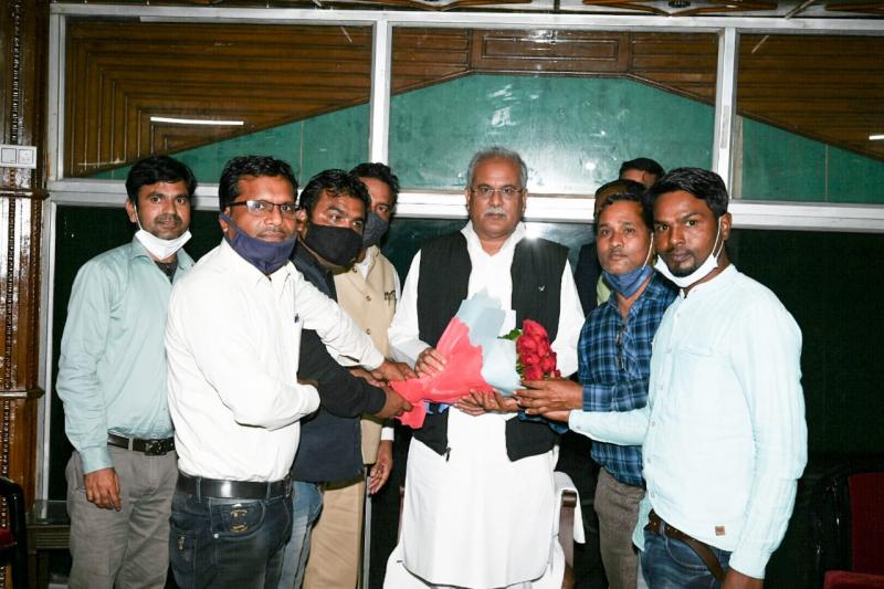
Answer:
M365 103L371 29L73 21L66 171L88 176ZM238 119L169 125L151 116Z

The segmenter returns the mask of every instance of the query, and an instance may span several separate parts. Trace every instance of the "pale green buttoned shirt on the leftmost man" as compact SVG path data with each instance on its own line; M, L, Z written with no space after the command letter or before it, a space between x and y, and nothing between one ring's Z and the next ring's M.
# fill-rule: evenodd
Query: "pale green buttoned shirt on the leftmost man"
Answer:
M178 251L177 282L193 260ZM56 390L65 432L86 473L113 466L107 433L172 435L162 332L172 285L144 245L130 243L86 262L67 303Z

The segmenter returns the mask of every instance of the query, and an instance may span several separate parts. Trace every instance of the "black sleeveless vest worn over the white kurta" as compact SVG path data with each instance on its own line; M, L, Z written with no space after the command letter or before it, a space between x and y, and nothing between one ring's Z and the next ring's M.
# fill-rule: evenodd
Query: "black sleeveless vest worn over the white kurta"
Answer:
M516 326L534 319L556 339L559 324L561 275L568 249L544 239L523 239L516 244L509 274L513 278L511 306ZM422 341L435 346L449 322L457 313L472 272L466 238L460 231L436 238L421 248L418 281L418 326ZM431 406L431 410L435 407ZM427 416L414 438L439 454L448 448L448 411ZM506 422L506 452L516 461L548 452L556 434L546 423L513 418Z

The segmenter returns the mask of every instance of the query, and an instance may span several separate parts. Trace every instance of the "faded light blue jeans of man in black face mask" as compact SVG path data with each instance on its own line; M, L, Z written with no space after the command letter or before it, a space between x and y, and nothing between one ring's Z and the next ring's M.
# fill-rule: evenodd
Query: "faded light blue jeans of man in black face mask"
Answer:
M295 481L292 494L292 535L285 545L280 589L301 589L311 554L311 529L323 511L323 493L315 483Z

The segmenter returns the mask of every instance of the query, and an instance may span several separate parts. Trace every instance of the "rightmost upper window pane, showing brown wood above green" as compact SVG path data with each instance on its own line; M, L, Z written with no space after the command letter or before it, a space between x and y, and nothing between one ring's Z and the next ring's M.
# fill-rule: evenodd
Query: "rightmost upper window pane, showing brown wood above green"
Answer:
M737 97L744 199L884 202L884 38L744 35Z

